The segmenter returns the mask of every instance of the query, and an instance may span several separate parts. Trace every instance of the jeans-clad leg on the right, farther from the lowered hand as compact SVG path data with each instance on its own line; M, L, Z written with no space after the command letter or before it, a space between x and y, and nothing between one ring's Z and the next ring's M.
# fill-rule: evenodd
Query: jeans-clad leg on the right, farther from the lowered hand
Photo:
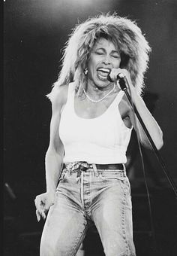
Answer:
M92 218L107 256L135 255L130 183L127 177L110 175L98 197Z

